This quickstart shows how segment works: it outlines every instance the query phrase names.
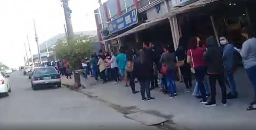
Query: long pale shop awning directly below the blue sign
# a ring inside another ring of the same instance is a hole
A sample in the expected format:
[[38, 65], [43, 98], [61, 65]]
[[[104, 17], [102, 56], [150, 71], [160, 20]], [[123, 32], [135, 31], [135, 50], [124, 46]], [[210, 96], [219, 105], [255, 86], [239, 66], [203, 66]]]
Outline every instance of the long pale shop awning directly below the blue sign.
[[157, 18], [157, 19], [148, 21], [148, 22], [146, 22], [146, 23], [142, 23], [142, 24], [140, 24], [140, 25], [134, 27], [133, 29], [128, 30], [127, 32], [124, 32], [124, 33], [122, 33], [122, 34], [120, 34], [120, 35], [117, 35], [117, 36], [115, 36], [115, 37], [113, 37], [113, 38], [109, 38], [109, 39], [106, 39], [106, 40], [102, 40], [101, 42], [105, 42], [105, 41], [109, 41], [109, 40], [121, 38], [121, 37], [124, 37], [124, 36], [126, 36], [126, 35], [133, 34], [134, 32], [139, 32], [139, 31], [142, 31], [142, 30], [144, 30], [144, 29], [148, 29], [148, 28], [150, 28], [150, 27], [152, 27], [152, 26], [157, 25], [158, 23], [161, 23], [162, 20], [166, 20], [166, 19], [167, 19], [167, 17], [160, 17], [160, 18]]

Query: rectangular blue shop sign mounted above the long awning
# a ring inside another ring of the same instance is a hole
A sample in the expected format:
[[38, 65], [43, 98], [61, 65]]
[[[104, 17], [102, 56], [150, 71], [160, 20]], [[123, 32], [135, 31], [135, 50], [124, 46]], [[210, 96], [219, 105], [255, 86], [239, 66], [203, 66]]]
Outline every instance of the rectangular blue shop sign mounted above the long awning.
[[109, 34], [138, 23], [137, 9], [133, 9], [108, 23]]

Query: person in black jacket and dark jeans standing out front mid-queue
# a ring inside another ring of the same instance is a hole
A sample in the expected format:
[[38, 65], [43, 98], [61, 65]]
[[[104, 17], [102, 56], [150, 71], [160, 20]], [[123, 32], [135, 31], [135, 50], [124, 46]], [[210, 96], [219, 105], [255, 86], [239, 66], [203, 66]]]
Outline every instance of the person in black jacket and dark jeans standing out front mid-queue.
[[[151, 97], [150, 93], [150, 79], [152, 75], [151, 70], [151, 64], [146, 59], [145, 52], [143, 50], [139, 51], [138, 58], [135, 59], [134, 62], [134, 77], [138, 78], [139, 84], [140, 84], [140, 93], [142, 100], [145, 101], [148, 99], [148, 101], [151, 101], [154, 99], [154, 97]], [[145, 98], [145, 92], [147, 94], [147, 98]]]

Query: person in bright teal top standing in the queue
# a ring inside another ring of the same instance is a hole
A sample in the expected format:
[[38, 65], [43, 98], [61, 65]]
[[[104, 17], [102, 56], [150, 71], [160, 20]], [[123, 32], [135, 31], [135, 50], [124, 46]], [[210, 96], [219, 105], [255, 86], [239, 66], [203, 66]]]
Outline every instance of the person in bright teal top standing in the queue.
[[119, 54], [116, 56], [116, 63], [119, 69], [119, 74], [122, 80], [125, 80], [125, 66], [126, 66], [126, 55], [123, 48], [119, 49]]

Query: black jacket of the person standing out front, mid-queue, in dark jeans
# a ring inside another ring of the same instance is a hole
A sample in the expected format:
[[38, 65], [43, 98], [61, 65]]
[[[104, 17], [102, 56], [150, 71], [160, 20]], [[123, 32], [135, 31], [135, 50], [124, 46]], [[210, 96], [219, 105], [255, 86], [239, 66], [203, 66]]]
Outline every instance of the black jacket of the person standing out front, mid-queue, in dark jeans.
[[140, 58], [137, 58], [134, 62], [133, 74], [138, 80], [150, 80], [153, 75], [150, 61], [145, 60], [141, 62]]

